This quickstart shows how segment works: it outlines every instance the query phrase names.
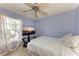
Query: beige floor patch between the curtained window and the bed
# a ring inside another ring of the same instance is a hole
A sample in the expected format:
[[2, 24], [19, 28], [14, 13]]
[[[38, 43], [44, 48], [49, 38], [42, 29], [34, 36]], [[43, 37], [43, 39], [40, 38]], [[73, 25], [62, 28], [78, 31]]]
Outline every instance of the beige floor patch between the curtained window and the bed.
[[7, 54], [6, 56], [28, 56], [27, 49], [24, 47], [20, 47], [14, 52]]

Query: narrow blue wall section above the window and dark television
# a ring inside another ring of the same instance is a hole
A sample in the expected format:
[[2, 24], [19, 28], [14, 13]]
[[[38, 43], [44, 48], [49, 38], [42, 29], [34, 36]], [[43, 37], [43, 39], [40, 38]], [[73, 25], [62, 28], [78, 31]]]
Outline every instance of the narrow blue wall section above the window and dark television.
[[16, 18], [16, 19], [21, 19], [22, 22], [23, 22], [23, 25], [34, 26], [34, 21], [33, 20], [31, 20], [29, 18], [26, 18], [26, 17], [24, 17], [20, 14], [15, 13], [15, 12], [9, 11], [9, 10], [4, 9], [4, 8], [0, 8], [0, 13], [8, 15], [8, 16]]

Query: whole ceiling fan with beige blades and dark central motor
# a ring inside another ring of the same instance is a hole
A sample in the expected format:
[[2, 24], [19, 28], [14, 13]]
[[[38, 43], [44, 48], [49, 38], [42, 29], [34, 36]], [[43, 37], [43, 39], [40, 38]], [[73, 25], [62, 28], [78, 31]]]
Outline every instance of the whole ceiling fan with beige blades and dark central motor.
[[35, 18], [39, 17], [39, 15], [46, 16], [47, 13], [43, 11], [42, 9], [45, 8], [44, 3], [24, 3], [26, 6], [30, 7], [31, 9], [23, 11], [23, 13], [31, 12], [31, 14], [34, 15]]

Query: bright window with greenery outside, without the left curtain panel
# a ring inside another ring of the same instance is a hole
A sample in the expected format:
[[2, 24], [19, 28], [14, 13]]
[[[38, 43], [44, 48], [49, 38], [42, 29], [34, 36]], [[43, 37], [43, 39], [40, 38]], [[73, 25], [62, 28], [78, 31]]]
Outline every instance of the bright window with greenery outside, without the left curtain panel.
[[7, 39], [7, 43], [11, 43], [13, 41], [17, 41], [19, 39], [21, 32], [21, 21], [17, 19], [13, 19], [11, 17], [5, 17], [4, 21], [5, 27], [5, 37]]

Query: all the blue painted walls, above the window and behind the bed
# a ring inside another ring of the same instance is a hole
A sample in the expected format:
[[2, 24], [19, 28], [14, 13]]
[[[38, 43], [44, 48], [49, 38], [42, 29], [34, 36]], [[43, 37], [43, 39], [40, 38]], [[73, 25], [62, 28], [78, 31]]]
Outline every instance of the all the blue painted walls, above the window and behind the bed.
[[23, 20], [23, 25], [35, 27], [37, 36], [62, 37], [67, 33], [79, 34], [79, 7], [35, 21], [4, 8], [0, 8], [0, 13]]

